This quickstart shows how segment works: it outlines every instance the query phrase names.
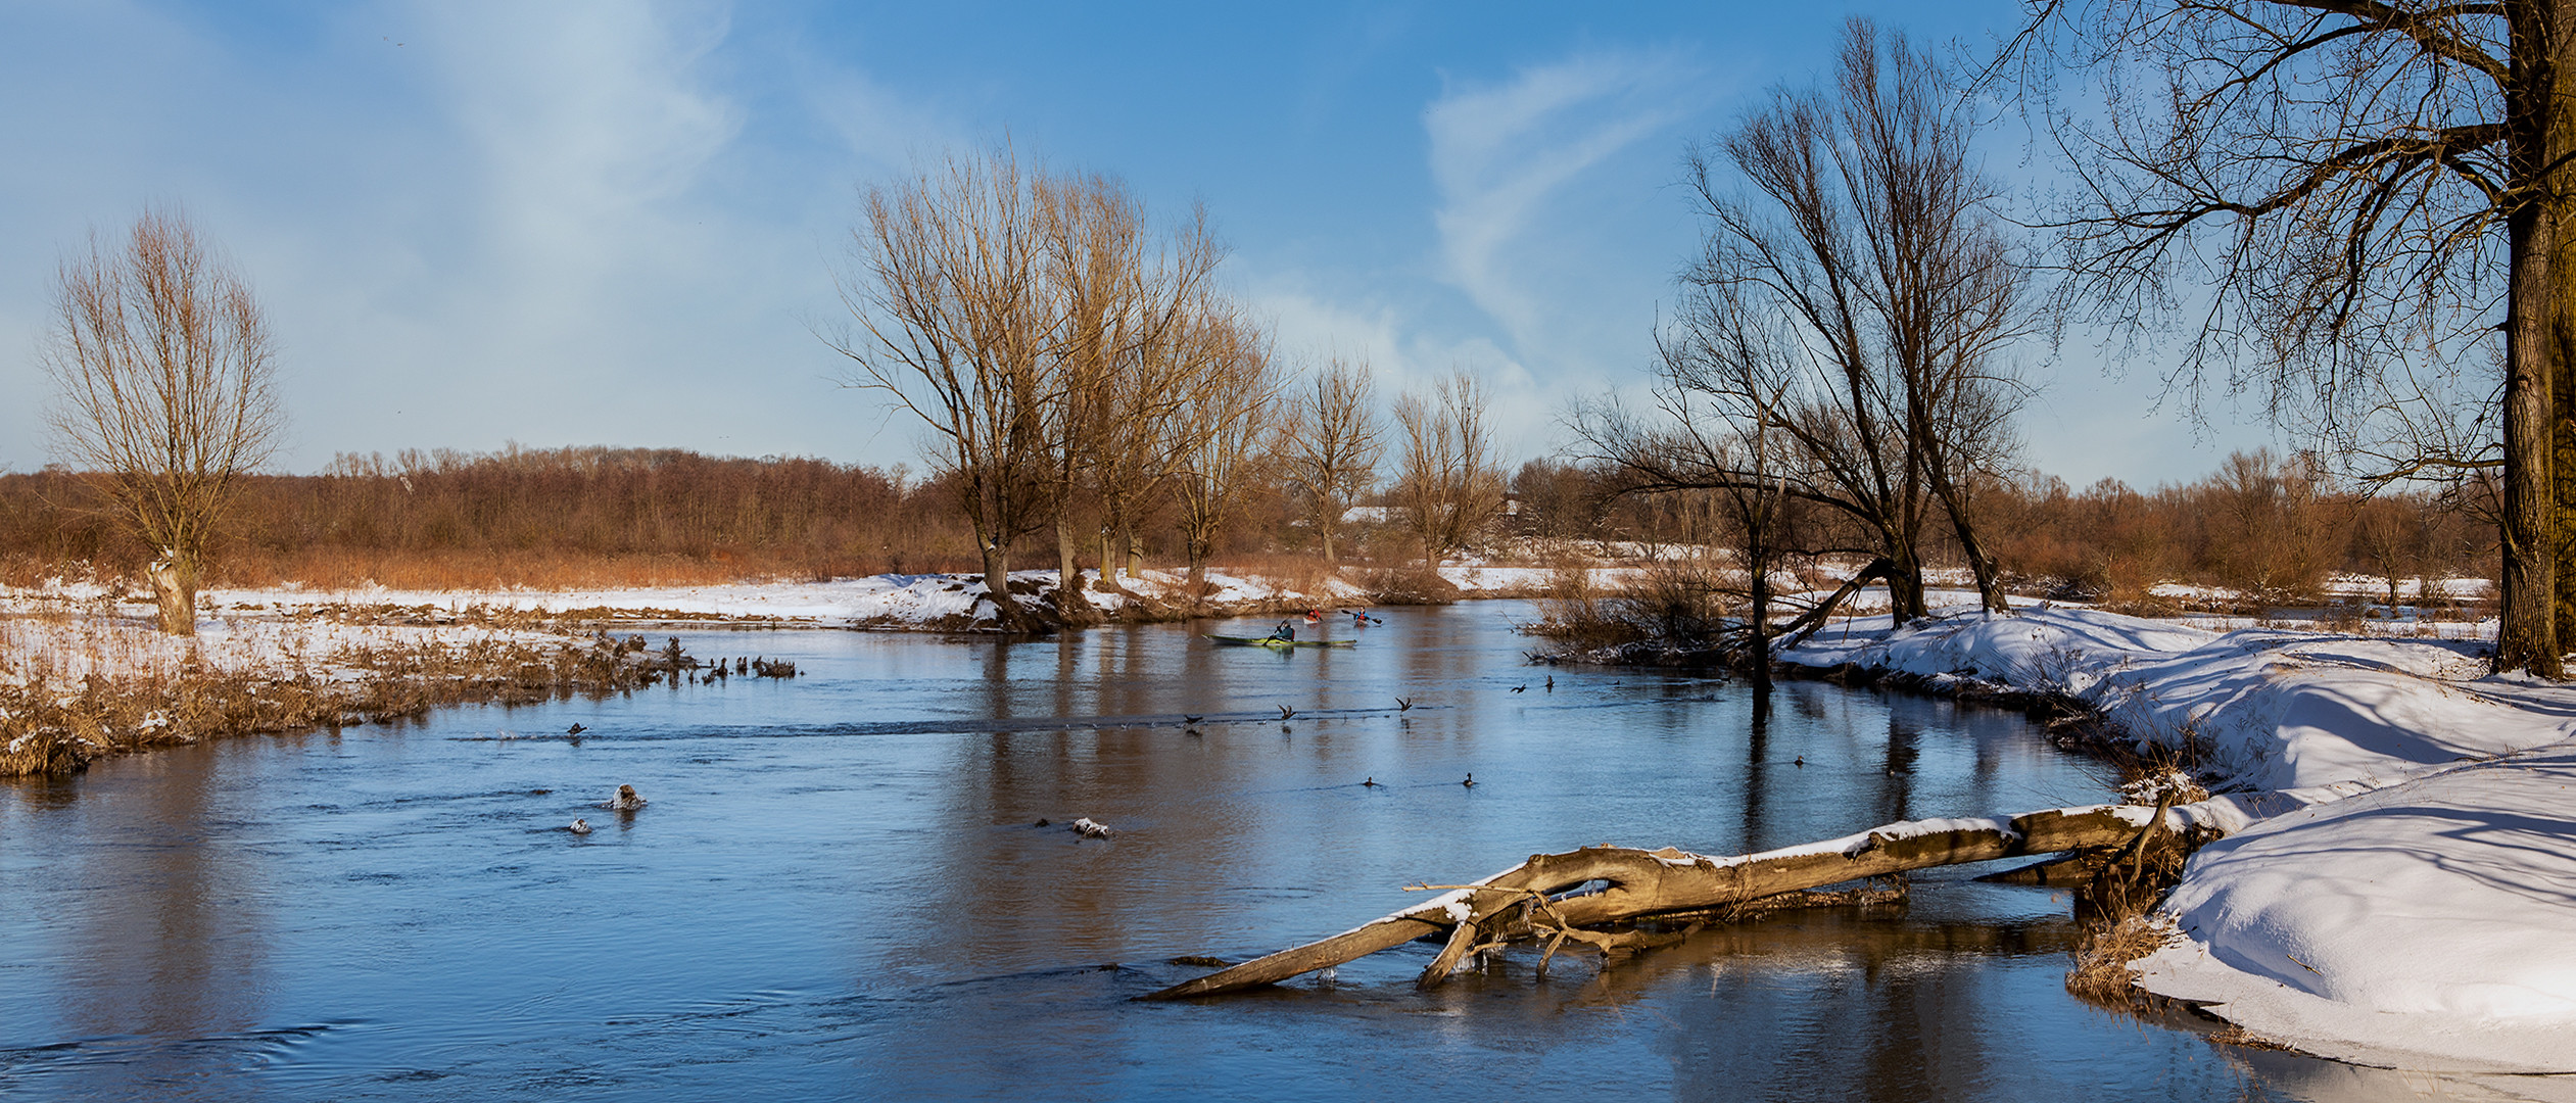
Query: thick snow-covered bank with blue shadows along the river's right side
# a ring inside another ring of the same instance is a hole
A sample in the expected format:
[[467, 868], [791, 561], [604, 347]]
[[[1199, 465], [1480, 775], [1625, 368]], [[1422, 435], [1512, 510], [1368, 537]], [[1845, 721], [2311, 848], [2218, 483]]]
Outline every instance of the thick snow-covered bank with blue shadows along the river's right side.
[[2063, 693], [2277, 794], [2192, 858], [2148, 990], [2360, 1064], [2576, 1072], [2576, 688], [2478, 652], [2027, 608], [1857, 619], [1783, 660]]

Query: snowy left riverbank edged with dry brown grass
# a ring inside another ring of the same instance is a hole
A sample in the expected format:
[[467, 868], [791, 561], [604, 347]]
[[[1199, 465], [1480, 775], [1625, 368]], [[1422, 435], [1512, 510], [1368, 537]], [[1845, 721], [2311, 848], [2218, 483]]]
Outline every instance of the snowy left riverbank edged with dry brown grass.
[[[1100, 590], [1103, 621], [1151, 624], [1453, 598], [1528, 595], [1540, 567], [1265, 580], [1211, 572], [1182, 598], [1177, 572]], [[1015, 600], [1054, 611], [1054, 572], [1012, 572]], [[0, 588], [0, 778], [227, 734], [415, 716], [448, 704], [613, 693], [657, 675], [659, 652], [600, 631], [659, 626], [999, 631], [979, 575], [876, 575], [600, 590], [209, 588], [198, 634], [155, 631], [142, 593], [95, 582]]]

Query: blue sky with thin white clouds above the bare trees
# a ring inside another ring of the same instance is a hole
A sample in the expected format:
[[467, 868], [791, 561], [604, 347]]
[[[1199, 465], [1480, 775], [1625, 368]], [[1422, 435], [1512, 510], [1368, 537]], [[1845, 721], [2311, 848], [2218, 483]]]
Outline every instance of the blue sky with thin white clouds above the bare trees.
[[[1649, 381], [1682, 144], [1819, 75], [1847, 13], [1984, 46], [2012, 3], [0, 3], [0, 469], [49, 459], [54, 258], [180, 204], [283, 343], [283, 469], [626, 443], [920, 466], [811, 327], [866, 180], [1002, 139], [1206, 201], [1291, 356], [1479, 371], [1515, 459]], [[2020, 147], [1996, 144], [1996, 170]], [[2084, 340], [2027, 461], [2187, 479], [2215, 438]], [[2066, 358], [2058, 363], [2058, 358]]]

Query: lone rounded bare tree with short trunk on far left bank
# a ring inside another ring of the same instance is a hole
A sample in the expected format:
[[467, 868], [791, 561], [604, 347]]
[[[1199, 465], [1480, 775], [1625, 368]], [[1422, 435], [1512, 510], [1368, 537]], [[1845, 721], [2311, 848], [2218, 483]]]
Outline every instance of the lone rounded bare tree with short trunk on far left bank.
[[209, 539], [286, 423], [260, 302], [185, 214], [147, 209], [121, 253], [93, 232], [57, 265], [41, 358], [59, 454], [155, 549], [162, 631], [193, 637]]

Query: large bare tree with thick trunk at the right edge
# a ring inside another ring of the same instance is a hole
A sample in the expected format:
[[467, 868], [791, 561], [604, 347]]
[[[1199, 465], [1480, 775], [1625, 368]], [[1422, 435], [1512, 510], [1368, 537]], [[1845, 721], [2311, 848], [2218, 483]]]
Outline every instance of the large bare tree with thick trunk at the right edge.
[[[2257, 389], [2285, 423], [2385, 412], [2380, 387], [2478, 371], [2478, 433], [2398, 474], [2501, 474], [2496, 667], [2561, 675], [2576, 634], [2576, 3], [2032, 0], [2025, 101], [2081, 180], [2071, 320], [2192, 312], [2169, 384]], [[2092, 101], [2092, 95], [2087, 95]], [[2215, 376], [2215, 379], [2210, 379]], [[2360, 410], [2354, 407], [2360, 402]], [[2494, 417], [2491, 417], [2494, 415]], [[2447, 417], [2432, 417], [2445, 423]], [[2388, 474], [2388, 472], [2383, 472]]]

